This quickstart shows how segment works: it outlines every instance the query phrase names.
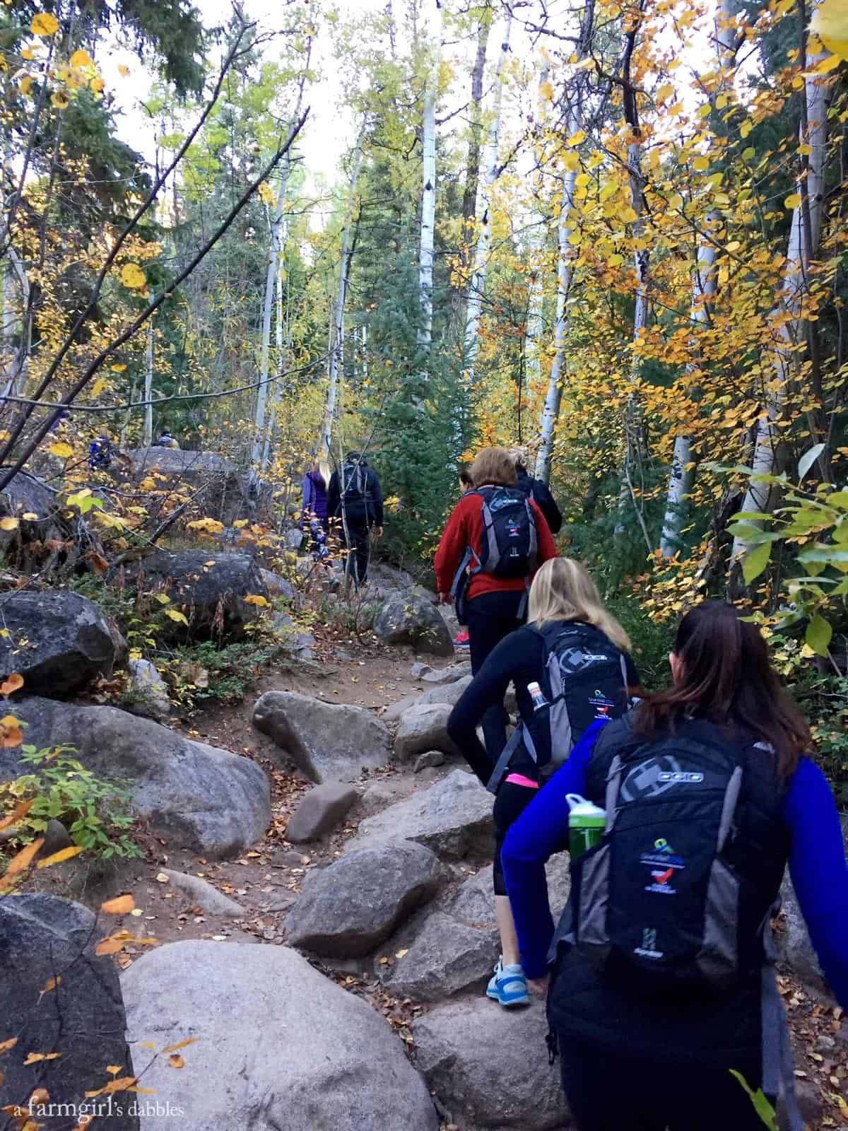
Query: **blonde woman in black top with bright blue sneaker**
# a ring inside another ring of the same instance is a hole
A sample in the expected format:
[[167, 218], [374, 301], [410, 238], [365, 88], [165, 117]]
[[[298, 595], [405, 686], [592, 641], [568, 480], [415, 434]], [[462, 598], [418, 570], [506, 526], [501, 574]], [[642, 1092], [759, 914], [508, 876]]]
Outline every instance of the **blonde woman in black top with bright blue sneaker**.
[[[624, 713], [628, 689], [639, 685], [629, 653], [626, 632], [604, 608], [583, 567], [554, 558], [534, 578], [528, 623], [501, 640], [448, 720], [451, 739], [495, 794], [493, 879], [501, 957], [486, 994], [507, 1009], [530, 999], [501, 865], [504, 837], [583, 731], [596, 718]], [[510, 682], [521, 725], [495, 766], [476, 729], [487, 710], [503, 703]]]

